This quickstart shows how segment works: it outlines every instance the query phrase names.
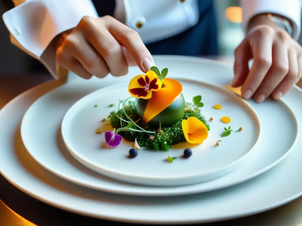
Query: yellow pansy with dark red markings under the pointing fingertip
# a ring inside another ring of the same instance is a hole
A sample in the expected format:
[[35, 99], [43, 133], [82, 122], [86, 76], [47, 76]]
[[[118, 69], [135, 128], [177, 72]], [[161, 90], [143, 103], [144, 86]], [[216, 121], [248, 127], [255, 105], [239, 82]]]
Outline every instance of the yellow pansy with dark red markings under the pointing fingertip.
[[135, 98], [150, 99], [152, 91], [161, 89], [162, 82], [154, 71], [147, 71], [146, 74], [135, 76], [130, 80], [128, 90]]

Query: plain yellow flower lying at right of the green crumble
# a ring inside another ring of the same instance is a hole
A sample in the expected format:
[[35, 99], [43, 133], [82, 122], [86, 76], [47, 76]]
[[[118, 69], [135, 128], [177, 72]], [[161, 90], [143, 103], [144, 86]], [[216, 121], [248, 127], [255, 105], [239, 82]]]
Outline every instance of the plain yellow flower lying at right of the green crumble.
[[207, 127], [195, 117], [182, 120], [182, 131], [191, 144], [201, 144], [208, 137]]

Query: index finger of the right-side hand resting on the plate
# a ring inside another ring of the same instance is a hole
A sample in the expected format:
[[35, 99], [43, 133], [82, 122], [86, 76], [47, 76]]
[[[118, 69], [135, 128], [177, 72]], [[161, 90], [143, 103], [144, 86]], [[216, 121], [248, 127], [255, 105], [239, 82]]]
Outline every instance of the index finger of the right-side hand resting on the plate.
[[269, 35], [261, 35], [259, 38], [250, 39], [248, 44], [254, 62], [241, 89], [244, 99], [254, 95], [271, 67], [273, 39]]

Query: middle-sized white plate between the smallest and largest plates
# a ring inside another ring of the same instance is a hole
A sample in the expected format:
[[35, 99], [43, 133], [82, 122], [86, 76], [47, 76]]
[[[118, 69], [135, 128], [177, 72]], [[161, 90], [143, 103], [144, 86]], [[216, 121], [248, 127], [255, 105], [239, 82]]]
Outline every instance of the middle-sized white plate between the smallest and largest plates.
[[[156, 58], [159, 59], [159, 63], [157, 64], [160, 64], [160, 62], [169, 62], [171, 59], [170, 57]], [[224, 64], [196, 58], [177, 57], [174, 58], [174, 61], [177, 61], [178, 59], [186, 64], [191, 64], [192, 61], [195, 61], [196, 64], [194, 65], [197, 67], [197, 70], [199, 70], [198, 67], [200, 65], [205, 73], [200, 75], [200, 79], [205, 80], [208, 83], [213, 82], [212, 78], [215, 77], [220, 86], [229, 84], [231, 81], [232, 68]], [[211, 72], [209, 69], [213, 67], [216, 68], [217, 73], [215, 71]], [[138, 72], [135, 68], [131, 68], [130, 72], [131, 71], [133, 71], [133, 73]], [[278, 114], [276, 115], [276, 118], [282, 118], [283, 121], [287, 121], [287, 123], [283, 123], [282, 126], [285, 127], [286, 130], [291, 128], [290, 132], [294, 133], [295, 136], [297, 135], [295, 131], [297, 128], [295, 118], [292, 116], [289, 108], [282, 102], [267, 101], [265, 105], [259, 105], [253, 101], [249, 101], [249, 104], [259, 112], [259, 117], [262, 121], [261, 136], [265, 135], [265, 137], [260, 137], [260, 141], [263, 139], [261, 145], [255, 147], [255, 154], [251, 156], [249, 162], [239, 170], [209, 182], [171, 188], [137, 186], [112, 180], [83, 167], [79, 162], [75, 161], [63, 144], [60, 133], [60, 124], [66, 111], [78, 99], [92, 93], [102, 86], [108, 86], [116, 80], [119, 80], [118, 82], [120, 82], [122, 79], [125, 79], [125, 81], [129, 80], [127, 77], [117, 79], [108, 77], [101, 80], [101, 83], [99, 83], [98, 80], [89, 80], [89, 82], [82, 83], [82, 80], [80, 80], [79, 83], [72, 83], [68, 86], [66, 85], [64, 89], [57, 89], [56, 92], [48, 93], [31, 105], [22, 121], [22, 139], [32, 157], [52, 173], [82, 186], [128, 195], [182, 195], [217, 190], [241, 183], [267, 171], [280, 162], [286, 156], [288, 153], [287, 150], [290, 149], [293, 144], [294, 136], [292, 139], [289, 139], [288, 137], [285, 139], [285, 136], [287, 136], [286, 133], [275, 133], [276, 130], [280, 130], [280, 125], [276, 124], [275, 118], [270, 117], [267, 112], [273, 111], [275, 114]], [[101, 108], [94, 108], [94, 110], [100, 109]], [[100, 115], [100, 120], [101, 119]], [[220, 124], [219, 120], [211, 122], [212, 127], [217, 124]], [[47, 128], [47, 130], [45, 128]], [[242, 132], [244, 131], [245, 130]], [[274, 149], [271, 148], [272, 143], [276, 145]], [[219, 148], [221, 146], [219, 146]], [[219, 155], [225, 154], [224, 152], [220, 152], [219, 149], [217, 150]], [[255, 161], [257, 164], [254, 164]]]

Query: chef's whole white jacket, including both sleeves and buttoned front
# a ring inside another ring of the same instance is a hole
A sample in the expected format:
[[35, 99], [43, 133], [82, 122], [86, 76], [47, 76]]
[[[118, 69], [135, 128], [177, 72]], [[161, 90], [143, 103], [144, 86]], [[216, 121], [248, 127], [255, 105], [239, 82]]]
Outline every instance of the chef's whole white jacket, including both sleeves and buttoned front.
[[[100, 0], [101, 1], [101, 0]], [[114, 1], [114, 0], [109, 0]], [[175, 36], [193, 27], [199, 19], [197, 0], [115, 0], [114, 17], [136, 30], [145, 44]], [[223, 1], [223, 0], [221, 0]], [[76, 27], [83, 16], [98, 17], [90, 0], [12, 0], [15, 7], [2, 16], [11, 42], [40, 60], [54, 78], [59, 77], [55, 48], [58, 34]], [[240, 0], [242, 26], [261, 13], [287, 17], [293, 24], [293, 38], [301, 28], [302, 0]], [[137, 22], [143, 29], [136, 27]]]

